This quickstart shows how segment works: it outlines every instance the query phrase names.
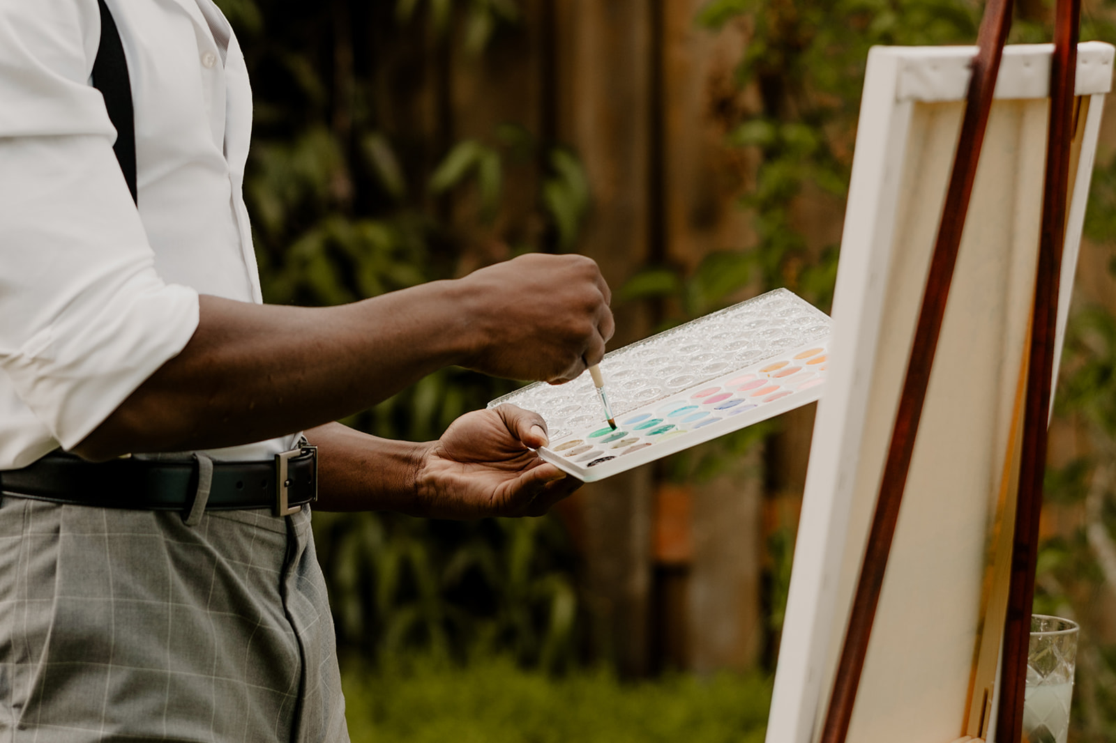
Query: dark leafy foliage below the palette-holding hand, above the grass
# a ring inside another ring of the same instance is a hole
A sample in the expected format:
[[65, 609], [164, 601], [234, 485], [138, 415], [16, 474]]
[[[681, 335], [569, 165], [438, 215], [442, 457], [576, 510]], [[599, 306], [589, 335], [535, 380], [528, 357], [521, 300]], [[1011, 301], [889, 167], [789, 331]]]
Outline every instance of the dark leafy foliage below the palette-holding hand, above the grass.
[[315, 529], [338, 635], [368, 658], [509, 653], [548, 670], [575, 658], [573, 560], [552, 520], [319, 513]]

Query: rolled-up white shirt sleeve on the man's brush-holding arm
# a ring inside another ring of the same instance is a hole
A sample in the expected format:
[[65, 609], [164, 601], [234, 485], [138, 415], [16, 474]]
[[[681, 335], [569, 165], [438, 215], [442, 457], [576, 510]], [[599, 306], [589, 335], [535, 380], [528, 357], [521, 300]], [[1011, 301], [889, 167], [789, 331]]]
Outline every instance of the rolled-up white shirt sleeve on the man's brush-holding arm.
[[88, 85], [97, 13], [0, 0], [0, 373], [67, 448], [198, 326], [198, 292], [155, 272]]

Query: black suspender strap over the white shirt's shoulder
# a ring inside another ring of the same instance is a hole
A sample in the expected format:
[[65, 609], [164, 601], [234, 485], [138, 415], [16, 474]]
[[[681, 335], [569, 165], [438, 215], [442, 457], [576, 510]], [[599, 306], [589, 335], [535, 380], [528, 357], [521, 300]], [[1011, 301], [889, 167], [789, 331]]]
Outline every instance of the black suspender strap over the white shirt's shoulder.
[[100, 90], [105, 97], [105, 108], [108, 118], [116, 127], [116, 144], [113, 151], [116, 161], [124, 172], [132, 201], [136, 197], [136, 127], [135, 113], [132, 108], [132, 81], [128, 79], [128, 62], [124, 57], [124, 45], [121, 32], [116, 29], [113, 15], [108, 12], [105, 0], [97, 0], [100, 6], [100, 46], [97, 58], [93, 60], [93, 87]]

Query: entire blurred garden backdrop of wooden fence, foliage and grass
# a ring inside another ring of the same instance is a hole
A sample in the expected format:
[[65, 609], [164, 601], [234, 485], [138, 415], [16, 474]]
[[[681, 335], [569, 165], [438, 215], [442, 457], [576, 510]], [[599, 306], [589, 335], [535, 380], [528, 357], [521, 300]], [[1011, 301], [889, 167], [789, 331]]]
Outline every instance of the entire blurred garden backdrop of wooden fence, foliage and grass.
[[[218, 0], [252, 74], [264, 297], [333, 305], [591, 255], [618, 347], [788, 287], [828, 311], [868, 47], [970, 0]], [[1116, 40], [1086, 0], [1083, 40]], [[1020, 0], [1012, 40], [1050, 38]], [[1116, 110], [1050, 446], [1037, 610], [1083, 625], [1071, 740], [1116, 740]], [[514, 383], [444, 369], [346, 423], [436, 437]], [[315, 515], [360, 741], [761, 741], [812, 406], [551, 515]]]

